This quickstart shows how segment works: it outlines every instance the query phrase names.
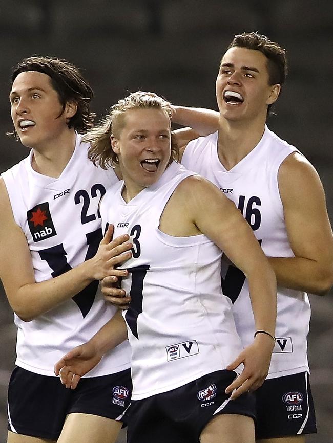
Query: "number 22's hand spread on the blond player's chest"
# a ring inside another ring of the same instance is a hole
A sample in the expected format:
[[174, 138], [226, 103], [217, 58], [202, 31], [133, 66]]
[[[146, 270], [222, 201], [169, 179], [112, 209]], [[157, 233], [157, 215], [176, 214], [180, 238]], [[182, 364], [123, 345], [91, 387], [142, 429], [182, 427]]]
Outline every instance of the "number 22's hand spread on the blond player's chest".
[[99, 243], [96, 255], [89, 260], [91, 277], [94, 280], [113, 277], [113, 283], [115, 283], [118, 278], [128, 274], [126, 269], [115, 269], [115, 267], [132, 257], [131, 248], [133, 245], [129, 241], [128, 234], [120, 235], [113, 240], [113, 231], [114, 227], [110, 225], [104, 238]]

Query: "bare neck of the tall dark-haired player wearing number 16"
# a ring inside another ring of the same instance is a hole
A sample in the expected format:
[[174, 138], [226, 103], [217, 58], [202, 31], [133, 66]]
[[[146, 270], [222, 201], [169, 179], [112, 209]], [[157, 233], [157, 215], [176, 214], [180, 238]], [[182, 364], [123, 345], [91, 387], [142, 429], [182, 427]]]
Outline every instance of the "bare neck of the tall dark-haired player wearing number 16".
[[220, 116], [218, 157], [226, 170], [232, 169], [259, 143], [265, 122], [234, 122]]

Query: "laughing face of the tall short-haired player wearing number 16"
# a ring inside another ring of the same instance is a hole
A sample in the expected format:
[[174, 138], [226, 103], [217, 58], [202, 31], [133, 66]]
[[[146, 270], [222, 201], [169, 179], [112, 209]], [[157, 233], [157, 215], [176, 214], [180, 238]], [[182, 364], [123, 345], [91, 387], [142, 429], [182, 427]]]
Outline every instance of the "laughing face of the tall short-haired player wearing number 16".
[[233, 47], [224, 54], [216, 79], [216, 99], [226, 120], [266, 120], [267, 106], [280, 85], [269, 85], [266, 56], [257, 50]]

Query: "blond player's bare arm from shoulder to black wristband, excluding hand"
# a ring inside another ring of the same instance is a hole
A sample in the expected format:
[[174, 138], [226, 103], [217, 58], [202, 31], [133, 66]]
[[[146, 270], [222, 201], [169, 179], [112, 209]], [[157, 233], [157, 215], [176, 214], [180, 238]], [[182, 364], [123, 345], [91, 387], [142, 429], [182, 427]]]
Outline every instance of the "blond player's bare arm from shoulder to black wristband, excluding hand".
[[[191, 206], [193, 202], [195, 205], [194, 223], [243, 271], [249, 283], [256, 329], [274, 335], [275, 276], [252, 229], [235, 204], [210, 182], [194, 177], [188, 187], [186, 194], [191, 195]], [[209, 204], [207, 195], [210, 195]]]

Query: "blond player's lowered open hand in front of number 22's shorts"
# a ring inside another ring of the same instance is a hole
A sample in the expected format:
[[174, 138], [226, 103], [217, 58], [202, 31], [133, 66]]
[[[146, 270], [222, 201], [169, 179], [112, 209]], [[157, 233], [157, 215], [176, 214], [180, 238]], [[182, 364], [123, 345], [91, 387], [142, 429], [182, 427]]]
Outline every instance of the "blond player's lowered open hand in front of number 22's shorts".
[[75, 389], [82, 375], [85, 375], [100, 362], [102, 354], [92, 343], [76, 346], [63, 356], [55, 365], [54, 373], [67, 389]]

